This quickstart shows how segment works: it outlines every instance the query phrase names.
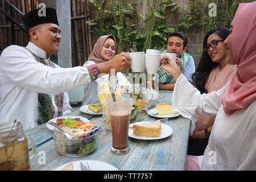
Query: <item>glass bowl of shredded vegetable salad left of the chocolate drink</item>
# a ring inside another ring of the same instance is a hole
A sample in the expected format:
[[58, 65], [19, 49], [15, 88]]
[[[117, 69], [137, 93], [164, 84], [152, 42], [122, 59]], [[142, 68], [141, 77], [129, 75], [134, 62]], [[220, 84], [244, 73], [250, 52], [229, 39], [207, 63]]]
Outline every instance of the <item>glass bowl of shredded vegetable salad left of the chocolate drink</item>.
[[94, 152], [99, 143], [100, 126], [95, 122], [76, 122], [71, 118], [59, 125], [63, 130], [75, 137], [68, 139], [64, 134], [54, 133], [53, 139], [56, 151], [69, 157], [80, 157]]

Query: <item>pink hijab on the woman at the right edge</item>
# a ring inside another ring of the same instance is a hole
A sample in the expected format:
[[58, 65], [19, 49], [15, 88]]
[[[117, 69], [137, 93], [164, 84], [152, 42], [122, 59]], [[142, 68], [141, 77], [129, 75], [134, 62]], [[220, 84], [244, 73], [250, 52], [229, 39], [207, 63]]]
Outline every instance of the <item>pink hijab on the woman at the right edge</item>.
[[222, 97], [226, 114], [248, 107], [256, 98], [255, 10], [256, 2], [240, 3], [233, 19], [232, 49], [237, 72]]

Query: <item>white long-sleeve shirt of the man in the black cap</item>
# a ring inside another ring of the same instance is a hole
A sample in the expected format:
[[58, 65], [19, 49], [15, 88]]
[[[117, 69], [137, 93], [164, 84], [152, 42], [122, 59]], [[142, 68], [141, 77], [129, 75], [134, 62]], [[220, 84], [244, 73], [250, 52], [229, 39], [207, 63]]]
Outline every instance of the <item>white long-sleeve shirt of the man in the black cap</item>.
[[[35, 44], [26, 48], [48, 61], [46, 52]], [[71, 107], [65, 92], [91, 81], [86, 67], [51, 68], [38, 63], [26, 48], [9, 46], [0, 57], [0, 122], [19, 119], [24, 130], [37, 126], [38, 93], [64, 92], [63, 114], [67, 114]]]

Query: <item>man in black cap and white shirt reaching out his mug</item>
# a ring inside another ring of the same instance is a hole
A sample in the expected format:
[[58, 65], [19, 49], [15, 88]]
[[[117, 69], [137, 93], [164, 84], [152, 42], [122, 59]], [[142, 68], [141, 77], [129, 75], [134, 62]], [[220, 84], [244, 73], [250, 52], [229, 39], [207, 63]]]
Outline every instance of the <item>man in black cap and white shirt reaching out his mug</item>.
[[27, 13], [23, 22], [30, 42], [27, 47], [9, 46], [0, 56], [0, 122], [19, 119], [28, 130], [49, 119], [70, 113], [67, 91], [96, 80], [100, 73], [130, 69], [127, 53], [88, 67], [60, 68], [49, 57], [59, 51], [61, 40], [56, 10]]

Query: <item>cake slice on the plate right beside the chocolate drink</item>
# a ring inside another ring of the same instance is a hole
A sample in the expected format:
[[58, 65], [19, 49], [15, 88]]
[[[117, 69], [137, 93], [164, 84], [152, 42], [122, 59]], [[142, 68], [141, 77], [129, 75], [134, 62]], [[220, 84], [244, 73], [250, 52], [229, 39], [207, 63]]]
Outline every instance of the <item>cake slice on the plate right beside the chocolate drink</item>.
[[133, 134], [142, 137], [160, 137], [162, 125], [160, 121], [133, 125]]

